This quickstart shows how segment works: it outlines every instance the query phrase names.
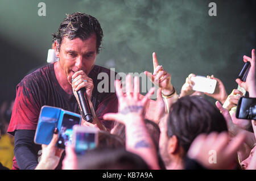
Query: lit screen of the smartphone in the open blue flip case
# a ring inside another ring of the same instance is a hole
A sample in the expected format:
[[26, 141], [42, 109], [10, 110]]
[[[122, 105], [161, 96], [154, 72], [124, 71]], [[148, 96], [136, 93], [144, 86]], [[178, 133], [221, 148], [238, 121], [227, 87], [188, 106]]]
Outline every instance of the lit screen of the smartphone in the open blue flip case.
[[57, 141], [57, 147], [65, 149], [65, 146], [72, 144], [73, 125], [79, 124], [80, 118], [68, 114], [63, 115], [63, 121], [60, 127], [60, 136]]

